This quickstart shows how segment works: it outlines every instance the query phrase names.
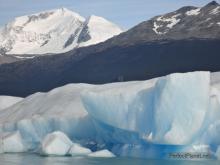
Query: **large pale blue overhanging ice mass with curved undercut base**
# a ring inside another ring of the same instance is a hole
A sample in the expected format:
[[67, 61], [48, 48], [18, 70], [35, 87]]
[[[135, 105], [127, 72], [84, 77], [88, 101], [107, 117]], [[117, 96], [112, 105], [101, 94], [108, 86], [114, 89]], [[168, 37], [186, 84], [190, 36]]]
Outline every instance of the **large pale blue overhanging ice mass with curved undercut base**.
[[210, 73], [171, 74], [150, 88], [142, 85], [89, 91], [82, 100], [88, 113], [101, 123], [138, 132], [154, 143], [190, 143], [209, 106]]

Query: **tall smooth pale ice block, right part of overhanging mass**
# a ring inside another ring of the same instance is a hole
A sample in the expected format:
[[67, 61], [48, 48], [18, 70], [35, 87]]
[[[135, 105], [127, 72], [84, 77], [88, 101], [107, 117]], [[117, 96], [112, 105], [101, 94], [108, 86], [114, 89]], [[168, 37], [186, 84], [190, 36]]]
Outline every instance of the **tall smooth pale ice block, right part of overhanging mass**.
[[[195, 85], [196, 84], [196, 85]], [[172, 74], [155, 86], [153, 136], [159, 143], [189, 144], [209, 106], [208, 72]], [[173, 104], [174, 103], [174, 104]]]

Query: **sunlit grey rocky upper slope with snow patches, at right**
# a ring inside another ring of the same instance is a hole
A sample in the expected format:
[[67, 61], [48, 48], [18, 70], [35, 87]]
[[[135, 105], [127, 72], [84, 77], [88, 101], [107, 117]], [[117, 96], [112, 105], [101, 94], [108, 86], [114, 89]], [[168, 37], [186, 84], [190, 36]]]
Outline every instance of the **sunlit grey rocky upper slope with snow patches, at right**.
[[212, 1], [204, 7], [182, 7], [174, 12], [142, 22], [108, 45], [131, 45], [161, 39], [218, 38], [220, 39], [220, 5]]

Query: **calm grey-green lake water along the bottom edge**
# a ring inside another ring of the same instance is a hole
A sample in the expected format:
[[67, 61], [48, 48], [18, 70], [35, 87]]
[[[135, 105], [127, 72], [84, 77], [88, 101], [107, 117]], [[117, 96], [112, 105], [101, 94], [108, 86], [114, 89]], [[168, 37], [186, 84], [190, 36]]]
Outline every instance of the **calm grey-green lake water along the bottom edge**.
[[35, 154], [0, 154], [0, 165], [219, 165], [220, 161], [147, 160], [134, 158], [41, 157]]

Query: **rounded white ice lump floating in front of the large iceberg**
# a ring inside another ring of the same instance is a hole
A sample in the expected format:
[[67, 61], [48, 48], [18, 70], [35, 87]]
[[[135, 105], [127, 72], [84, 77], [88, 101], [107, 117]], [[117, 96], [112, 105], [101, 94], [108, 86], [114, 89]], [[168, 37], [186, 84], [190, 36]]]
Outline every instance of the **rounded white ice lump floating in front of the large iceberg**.
[[41, 152], [43, 155], [67, 155], [72, 144], [72, 141], [64, 133], [53, 132], [43, 139]]

